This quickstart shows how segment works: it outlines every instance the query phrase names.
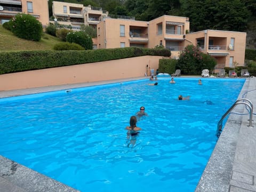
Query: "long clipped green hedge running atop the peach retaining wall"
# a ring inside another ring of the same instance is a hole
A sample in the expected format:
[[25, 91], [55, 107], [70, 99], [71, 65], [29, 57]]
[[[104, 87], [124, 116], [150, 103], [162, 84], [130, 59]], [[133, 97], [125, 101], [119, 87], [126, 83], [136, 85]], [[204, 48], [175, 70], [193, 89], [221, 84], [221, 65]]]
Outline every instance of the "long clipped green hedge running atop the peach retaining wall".
[[124, 59], [143, 55], [170, 57], [171, 52], [167, 49], [156, 50], [143, 49], [139, 47], [86, 51], [67, 50], [0, 52], [0, 74]]

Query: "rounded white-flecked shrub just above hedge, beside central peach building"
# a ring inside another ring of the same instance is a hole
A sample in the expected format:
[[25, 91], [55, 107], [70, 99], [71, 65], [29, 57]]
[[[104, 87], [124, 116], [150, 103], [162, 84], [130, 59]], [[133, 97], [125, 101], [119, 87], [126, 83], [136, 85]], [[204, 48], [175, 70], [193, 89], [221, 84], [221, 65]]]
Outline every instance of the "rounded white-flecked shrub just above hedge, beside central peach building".
[[92, 38], [85, 34], [84, 31], [73, 31], [67, 34], [66, 41], [77, 43], [84, 47], [85, 50], [92, 50]]

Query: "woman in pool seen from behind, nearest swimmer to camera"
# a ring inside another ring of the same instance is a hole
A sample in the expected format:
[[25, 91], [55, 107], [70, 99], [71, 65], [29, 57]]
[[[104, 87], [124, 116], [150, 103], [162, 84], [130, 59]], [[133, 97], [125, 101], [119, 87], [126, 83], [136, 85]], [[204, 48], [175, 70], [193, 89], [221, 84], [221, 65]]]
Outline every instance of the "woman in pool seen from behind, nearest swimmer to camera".
[[131, 141], [127, 145], [127, 147], [129, 147], [130, 144], [132, 144], [132, 146], [135, 145], [135, 143], [136, 143], [136, 136], [139, 134], [139, 131], [141, 130], [140, 127], [137, 127], [136, 123], [137, 123], [136, 116], [131, 116], [131, 118], [130, 118], [130, 126], [127, 126], [125, 128], [126, 130], [128, 130], [127, 131], [127, 139], [130, 139], [130, 137], [131, 137]]

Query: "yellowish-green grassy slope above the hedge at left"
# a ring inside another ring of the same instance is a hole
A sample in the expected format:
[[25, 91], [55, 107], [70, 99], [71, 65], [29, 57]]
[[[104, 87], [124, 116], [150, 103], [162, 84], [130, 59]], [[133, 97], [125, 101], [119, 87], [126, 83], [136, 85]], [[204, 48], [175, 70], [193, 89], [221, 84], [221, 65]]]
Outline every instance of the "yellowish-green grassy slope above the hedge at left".
[[16, 37], [0, 25], [0, 51], [53, 50], [53, 46], [60, 42], [59, 38], [45, 33], [39, 42], [28, 41]]

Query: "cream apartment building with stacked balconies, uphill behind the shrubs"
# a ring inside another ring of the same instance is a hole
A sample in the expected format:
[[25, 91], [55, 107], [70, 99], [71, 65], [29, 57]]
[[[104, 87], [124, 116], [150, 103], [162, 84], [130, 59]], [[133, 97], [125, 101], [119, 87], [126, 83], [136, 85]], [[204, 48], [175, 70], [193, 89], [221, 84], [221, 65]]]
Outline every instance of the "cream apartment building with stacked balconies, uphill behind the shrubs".
[[89, 25], [94, 28], [97, 24], [108, 16], [108, 12], [101, 7], [83, 6], [77, 3], [52, 2], [52, 12], [54, 20], [60, 25], [70, 26], [74, 30], [79, 30], [81, 25]]

